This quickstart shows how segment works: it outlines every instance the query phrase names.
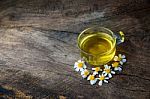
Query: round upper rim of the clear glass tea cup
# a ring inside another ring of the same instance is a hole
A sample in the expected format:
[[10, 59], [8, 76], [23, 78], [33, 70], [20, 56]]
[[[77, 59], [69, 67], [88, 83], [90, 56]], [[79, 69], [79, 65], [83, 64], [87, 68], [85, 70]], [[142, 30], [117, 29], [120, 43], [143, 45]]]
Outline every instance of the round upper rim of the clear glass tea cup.
[[[79, 41], [80, 36], [81, 36], [82, 34], [84, 34], [85, 31], [87, 31], [87, 30], [89, 30], [89, 29], [92, 29], [92, 28], [103, 28], [103, 29], [109, 31], [109, 32], [114, 36], [114, 33], [113, 33], [110, 29], [105, 28], [105, 27], [97, 27], [97, 26], [94, 26], [94, 27], [89, 27], [89, 28], [83, 30], [83, 31], [78, 35], [77, 42]], [[107, 54], [107, 53], [111, 52], [111, 51], [114, 49], [115, 45], [116, 45], [116, 37], [114, 36], [113, 38], [114, 38], [114, 43], [113, 43], [113, 45], [112, 45], [113, 47], [112, 47], [109, 51], [107, 51], [107, 52], [99, 53], [99, 54], [96, 54], [96, 55], [102, 56], [102, 55], [104, 55], [104, 54]], [[83, 53], [85, 53], [85, 54], [87, 54], [87, 55], [90, 55], [90, 56], [94, 56], [93, 54], [87, 53], [87, 52], [85, 52], [84, 50], [82, 50], [82, 49], [80, 48], [80, 46], [79, 46], [79, 43], [77, 43], [77, 46], [78, 46], [78, 48], [80, 49], [80, 51], [82, 51]]]

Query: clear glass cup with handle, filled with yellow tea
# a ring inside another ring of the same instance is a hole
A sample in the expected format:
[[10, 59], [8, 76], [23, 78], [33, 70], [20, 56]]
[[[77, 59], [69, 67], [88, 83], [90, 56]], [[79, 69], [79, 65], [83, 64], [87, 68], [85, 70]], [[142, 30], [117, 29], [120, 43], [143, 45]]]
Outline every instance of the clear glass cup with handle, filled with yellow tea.
[[124, 42], [123, 32], [113, 33], [104, 27], [91, 27], [78, 36], [81, 58], [93, 66], [104, 65], [116, 53], [116, 45]]

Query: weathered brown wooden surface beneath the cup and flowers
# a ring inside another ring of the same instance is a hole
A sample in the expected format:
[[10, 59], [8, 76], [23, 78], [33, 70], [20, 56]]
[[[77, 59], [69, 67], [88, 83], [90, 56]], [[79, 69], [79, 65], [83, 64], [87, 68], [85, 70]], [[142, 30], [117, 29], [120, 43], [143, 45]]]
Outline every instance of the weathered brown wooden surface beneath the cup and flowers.
[[[126, 38], [118, 51], [128, 62], [102, 87], [73, 69], [77, 36], [94, 25], [122, 30]], [[149, 53], [149, 0], [0, 1], [0, 85], [23, 97], [150, 99]]]

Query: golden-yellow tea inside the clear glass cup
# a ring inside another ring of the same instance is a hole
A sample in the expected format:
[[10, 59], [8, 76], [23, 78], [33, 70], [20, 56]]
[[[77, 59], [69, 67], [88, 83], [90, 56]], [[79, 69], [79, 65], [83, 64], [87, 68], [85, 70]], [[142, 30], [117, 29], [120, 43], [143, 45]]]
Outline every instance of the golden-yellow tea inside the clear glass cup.
[[[115, 55], [113, 38], [106, 33], [94, 33], [85, 36], [79, 46], [86, 52], [81, 51], [81, 57], [91, 65], [104, 65]], [[87, 54], [88, 53], [88, 54]]]

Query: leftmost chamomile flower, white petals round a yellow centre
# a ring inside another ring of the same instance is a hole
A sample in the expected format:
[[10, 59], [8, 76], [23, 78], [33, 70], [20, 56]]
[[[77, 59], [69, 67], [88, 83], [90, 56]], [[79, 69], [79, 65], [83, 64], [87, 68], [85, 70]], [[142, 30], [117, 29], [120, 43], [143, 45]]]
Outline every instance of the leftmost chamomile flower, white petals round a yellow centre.
[[78, 60], [77, 62], [75, 62], [74, 68], [75, 68], [75, 71], [83, 71], [84, 69], [86, 69], [86, 65], [84, 61]]

